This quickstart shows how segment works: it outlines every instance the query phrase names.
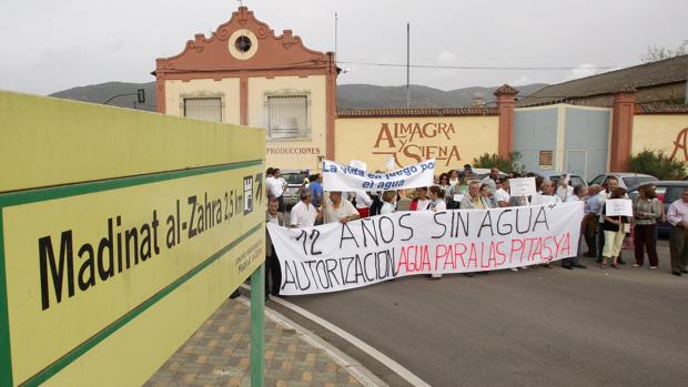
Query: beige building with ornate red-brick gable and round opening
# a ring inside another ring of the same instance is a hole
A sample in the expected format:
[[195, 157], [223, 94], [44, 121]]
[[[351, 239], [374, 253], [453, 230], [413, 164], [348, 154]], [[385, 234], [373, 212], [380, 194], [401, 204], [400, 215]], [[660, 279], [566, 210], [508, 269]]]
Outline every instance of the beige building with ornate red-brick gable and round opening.
[[158, 111], [265, 128], [267, 164], [316, 169], [334, 159], [334, 54], [305, 48], [285, 30], [275, 35], [245, 7], [211, 37], [156, 60]]

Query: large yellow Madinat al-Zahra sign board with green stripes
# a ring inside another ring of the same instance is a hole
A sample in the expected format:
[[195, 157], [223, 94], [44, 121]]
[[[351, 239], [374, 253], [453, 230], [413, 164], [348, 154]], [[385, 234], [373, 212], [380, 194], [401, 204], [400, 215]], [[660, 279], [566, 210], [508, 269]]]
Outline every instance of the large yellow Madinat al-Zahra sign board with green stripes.
[[[0, 93], [0, 153], [94, 129], [117, 143], [7, 165], [24, 173], [0, 187], [2, 386], [142, 384], [264, 259], [264, 131]], [[64, 173], [33, 175], [49, 164]]]

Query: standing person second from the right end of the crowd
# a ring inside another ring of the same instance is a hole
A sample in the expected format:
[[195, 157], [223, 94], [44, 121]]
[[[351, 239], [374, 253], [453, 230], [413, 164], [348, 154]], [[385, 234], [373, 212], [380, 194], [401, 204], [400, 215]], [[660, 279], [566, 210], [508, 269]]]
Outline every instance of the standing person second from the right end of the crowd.
[[657, 268], [657, 220], [661, 217], [661, 203], [657, 200], [655, 190], [649, 184], [638, 187], [638, 198], [633, 204], [634, 212], [634, 242], [636, 252], [636, 263], [634, 267], [643, 266], [645, 253], [650, 261], [650, 268]]

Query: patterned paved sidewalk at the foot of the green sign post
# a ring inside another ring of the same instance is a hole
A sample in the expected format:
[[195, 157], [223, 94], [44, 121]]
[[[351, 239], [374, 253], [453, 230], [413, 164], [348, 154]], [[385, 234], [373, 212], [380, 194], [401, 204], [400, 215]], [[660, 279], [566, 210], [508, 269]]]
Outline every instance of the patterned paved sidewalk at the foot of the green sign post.
[[[251, 310], [242, 298], [224, 302], [144, 386], [251, 386]], [[323, 349], [269, 316], [264, 386], [362, 386]]]

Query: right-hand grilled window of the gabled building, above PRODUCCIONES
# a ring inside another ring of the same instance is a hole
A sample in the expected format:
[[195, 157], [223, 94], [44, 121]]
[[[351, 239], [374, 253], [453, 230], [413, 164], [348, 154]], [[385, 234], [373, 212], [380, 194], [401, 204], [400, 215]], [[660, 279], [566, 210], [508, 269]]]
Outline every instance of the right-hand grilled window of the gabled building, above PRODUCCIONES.
[[271, 140], [311, 136], [306, 95], [267, 96], [267, 138]]

